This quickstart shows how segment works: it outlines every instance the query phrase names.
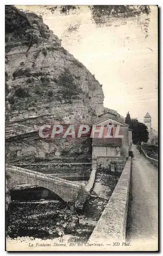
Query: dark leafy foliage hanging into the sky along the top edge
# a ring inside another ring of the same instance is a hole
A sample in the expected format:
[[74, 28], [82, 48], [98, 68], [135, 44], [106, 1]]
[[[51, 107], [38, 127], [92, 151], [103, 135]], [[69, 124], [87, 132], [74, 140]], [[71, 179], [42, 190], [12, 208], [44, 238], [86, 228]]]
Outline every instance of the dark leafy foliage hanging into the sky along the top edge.
[[[77, 12], [76, 14], [83, 12], [80, 6], [74, 5], [43, 6], [43, 8], [50, 10], [52, 13], [59, 10], [62, 15], [68, 15], [70, 11]], [[144, 28], [146, 37], [148, 36], [149, 13], [151, 12], [150, 6], [148, 5], [89, 5], [88, 8], [91, 10], [91, 19], [97, 27], [105, 26], [107, 22], [112, 24], [113, 17], [122, 20], [122, 18], [126, 19], [130, 17], [139, 19], [142, 16], [141, 30]]]

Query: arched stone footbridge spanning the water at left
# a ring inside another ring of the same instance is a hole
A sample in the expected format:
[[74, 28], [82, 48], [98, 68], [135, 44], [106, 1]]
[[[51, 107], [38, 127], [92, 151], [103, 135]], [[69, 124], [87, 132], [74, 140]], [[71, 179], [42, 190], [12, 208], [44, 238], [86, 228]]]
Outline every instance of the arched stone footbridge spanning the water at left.
[[8, 175], [9, 189], [18, 184], [37, 185], [51, 190], [65, 202], [76, 201], [82, 189], [82, 185], [75, 184], [72, 181], [8, 164], [6, 165], [6, 174]]

